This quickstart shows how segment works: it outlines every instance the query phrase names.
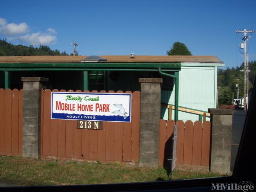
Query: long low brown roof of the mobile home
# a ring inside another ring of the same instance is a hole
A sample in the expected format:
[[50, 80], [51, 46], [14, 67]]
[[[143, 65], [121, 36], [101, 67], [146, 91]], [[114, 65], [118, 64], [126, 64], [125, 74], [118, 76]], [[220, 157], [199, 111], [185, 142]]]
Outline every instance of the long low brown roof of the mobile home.
[[[88, 56], [1, 56], [0, 63], [80, 63]], [[107, 63], [223, 63], [216, 56], [194, 55], [103, 55]]]

